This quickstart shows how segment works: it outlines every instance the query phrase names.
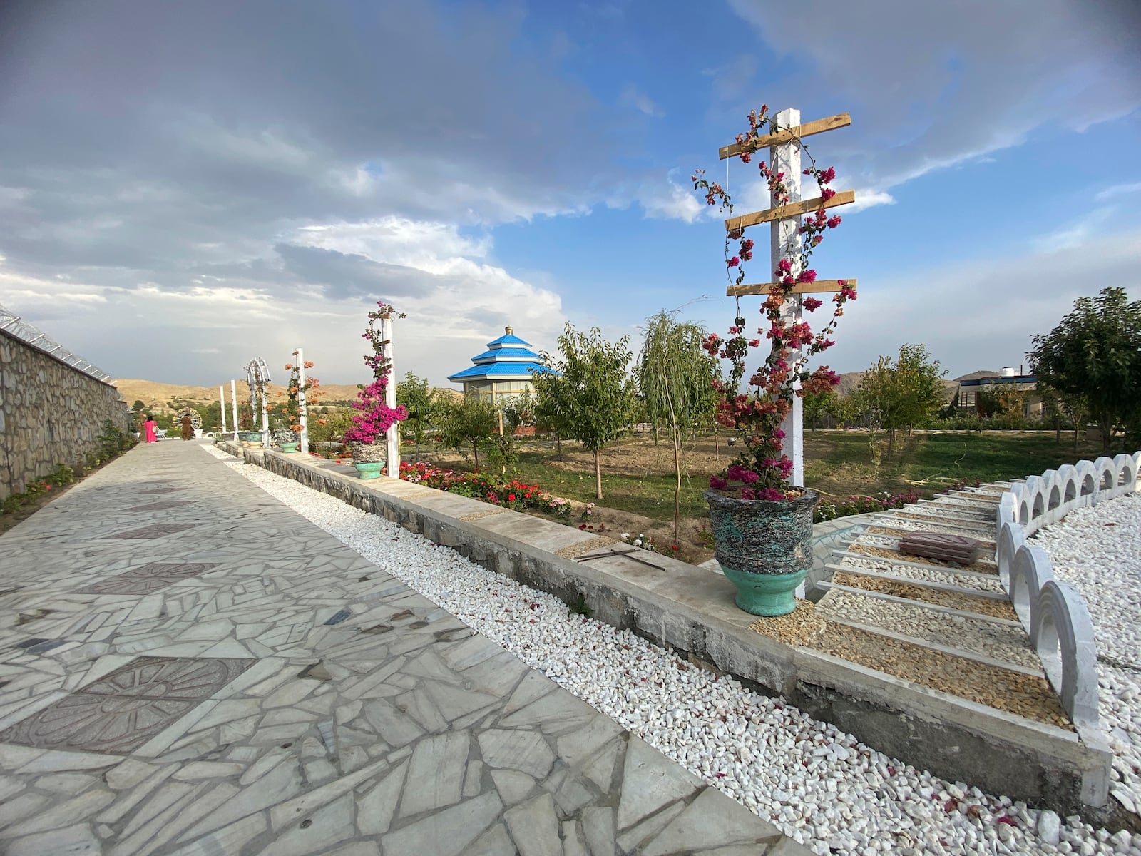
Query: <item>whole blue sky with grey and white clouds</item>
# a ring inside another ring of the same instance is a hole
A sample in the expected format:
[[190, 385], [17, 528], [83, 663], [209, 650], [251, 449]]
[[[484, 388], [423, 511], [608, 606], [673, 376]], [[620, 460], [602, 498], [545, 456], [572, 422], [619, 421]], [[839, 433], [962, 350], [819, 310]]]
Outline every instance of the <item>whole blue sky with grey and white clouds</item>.
[[725, 332], [689, 176], [723, 179], [766, 102], [852, 115], [809, 139], [861, 200], [815, 259], [859, 281], [827, 362], [1017, 366], [1076, 297], [1141, 298], [1139, 9], [8, 0], [0, 305], [115, 377], [195, 385], [254, 356], [280, 379], [298, 346], [363, 380], [378, 299], [407, 313], [397, 374], [436, 386], [505, 324], [550, 350], [568, 321], [637, 350], [663, 308]]

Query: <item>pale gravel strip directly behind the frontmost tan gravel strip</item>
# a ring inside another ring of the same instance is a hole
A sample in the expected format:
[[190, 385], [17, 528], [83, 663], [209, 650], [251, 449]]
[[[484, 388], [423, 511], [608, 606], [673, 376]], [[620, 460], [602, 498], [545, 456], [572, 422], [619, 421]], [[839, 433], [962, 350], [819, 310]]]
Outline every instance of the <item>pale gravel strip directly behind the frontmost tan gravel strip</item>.
[[858, 621], [906, 636], [962, 648], [1017, 665], [1041, 669], [1042, 661], [1030, 646], [1021, 628], [973, 621], [961, 615], [924, 609], [922, 606], [897, 604], [891, 600], [865, 597], [851, 591], [833, 589], [816, 605], [817, 612], [827, 617]]

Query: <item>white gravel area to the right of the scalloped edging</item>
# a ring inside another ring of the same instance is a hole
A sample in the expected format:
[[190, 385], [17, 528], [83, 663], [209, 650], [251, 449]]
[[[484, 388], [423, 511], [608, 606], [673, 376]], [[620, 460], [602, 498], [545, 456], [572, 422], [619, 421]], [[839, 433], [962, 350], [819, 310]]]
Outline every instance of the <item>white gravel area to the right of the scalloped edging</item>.
[[1054, 576], [1076, 586], [1090, 607], [1101, 661], [1098, 712], [1114, 750], [1110, 793], [1141, 813], [1141, 494], [1071, 511], [1029, 543], [1050, 554]]

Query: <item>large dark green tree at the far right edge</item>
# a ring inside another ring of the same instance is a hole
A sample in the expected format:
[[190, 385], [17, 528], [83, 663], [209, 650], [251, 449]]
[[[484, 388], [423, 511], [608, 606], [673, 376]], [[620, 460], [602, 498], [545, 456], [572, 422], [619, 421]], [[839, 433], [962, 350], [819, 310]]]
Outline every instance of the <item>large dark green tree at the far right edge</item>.
[[1109, 451], [1114, 429], [1141, 418], [1141, 301], [1115, 288], [1079, 297], [1058, 326], [1031, 341], [1030, 370], [1063, 401], [1084, 401]]

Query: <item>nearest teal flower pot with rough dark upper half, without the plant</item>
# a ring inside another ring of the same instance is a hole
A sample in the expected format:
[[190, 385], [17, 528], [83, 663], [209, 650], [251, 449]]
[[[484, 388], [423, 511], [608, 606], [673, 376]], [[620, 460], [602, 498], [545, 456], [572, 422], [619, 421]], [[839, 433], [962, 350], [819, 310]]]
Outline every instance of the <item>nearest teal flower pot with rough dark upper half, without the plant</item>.
[[743, 500], [717, 491], [704, 495], [714, 555], [737, 587], [737, 606], [752, 615], [795, 609], [796, 587], [812, 567], [812, 507], [820, 495], [804, 491], [787, 502]]

